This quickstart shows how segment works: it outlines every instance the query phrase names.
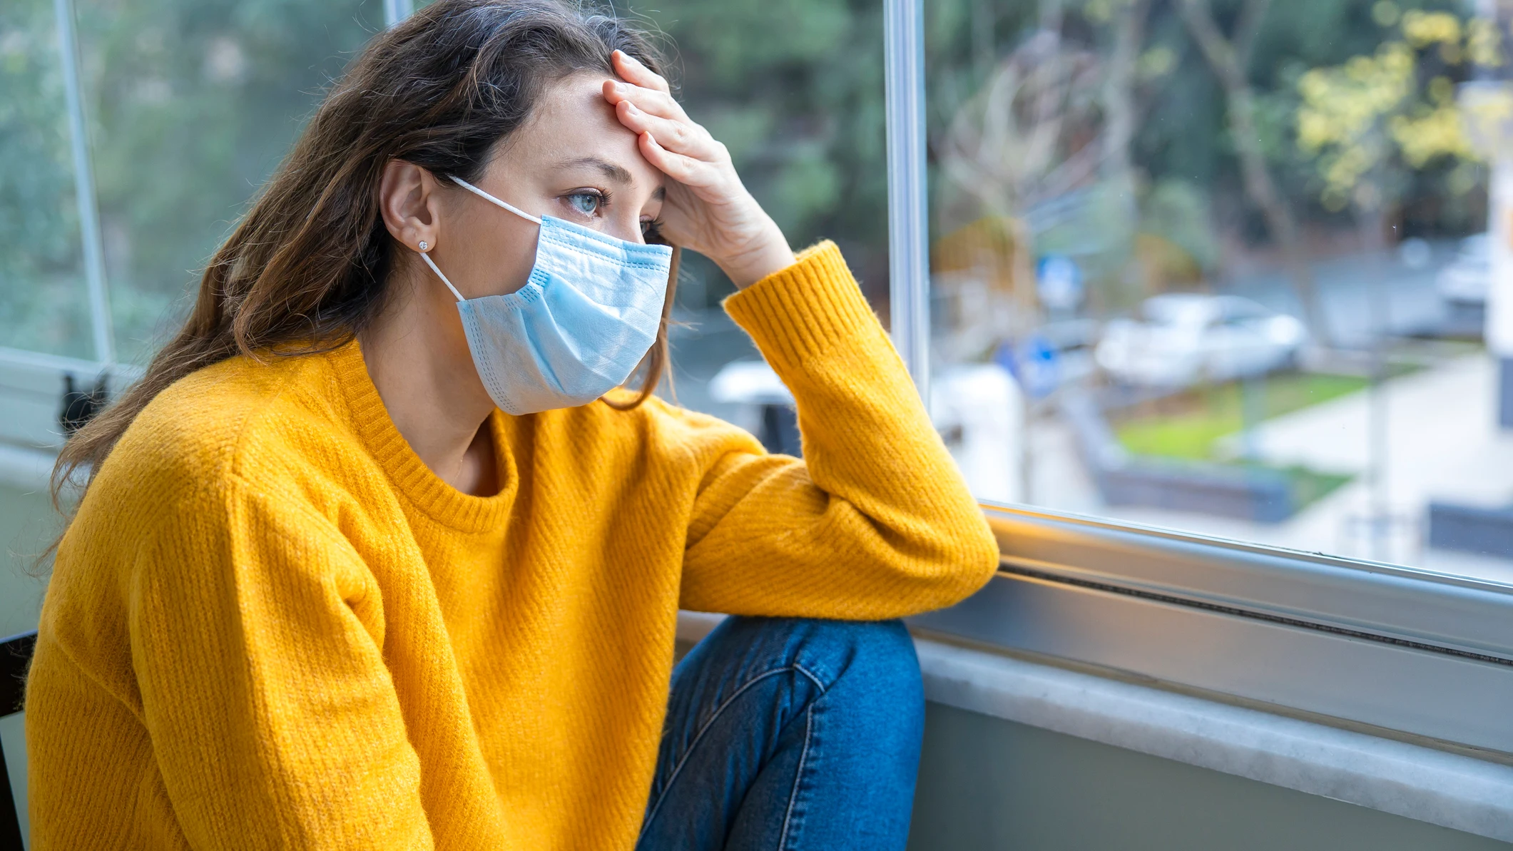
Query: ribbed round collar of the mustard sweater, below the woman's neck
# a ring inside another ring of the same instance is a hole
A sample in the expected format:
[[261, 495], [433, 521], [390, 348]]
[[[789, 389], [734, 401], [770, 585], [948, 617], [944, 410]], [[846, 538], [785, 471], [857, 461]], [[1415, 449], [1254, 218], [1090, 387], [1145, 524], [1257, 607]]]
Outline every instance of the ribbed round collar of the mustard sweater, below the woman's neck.
[[404, 498], [434, 521], [458, 531], [486, 531], [499, 528], [514, 503], [519, 475], [504, 436], [501, 412], [489, 415], [493, 430], [493, 451], [499, 465], [499, 492], [493, 497], [474, 497], [452, 488], [425, 466], [410, 444], [389, 418], [378, 388], [368, 376], [368, 365], [359, 342], [353, 342], [327, 354], [336, 380], [342, 386], [353, 427], [368, 451], [383, 466], [389, 480]]

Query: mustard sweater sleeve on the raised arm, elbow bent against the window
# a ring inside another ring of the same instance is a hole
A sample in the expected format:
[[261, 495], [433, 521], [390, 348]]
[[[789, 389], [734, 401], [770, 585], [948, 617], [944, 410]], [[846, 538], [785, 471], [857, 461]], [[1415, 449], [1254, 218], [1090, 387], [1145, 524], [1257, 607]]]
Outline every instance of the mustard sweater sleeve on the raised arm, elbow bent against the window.
[[878, 619], [986, 583], [993, 533], [840, 250], [822, 242], [725, 307], [793, 392], [803, 460], [749, 447], [713, 460], [681, 606]]

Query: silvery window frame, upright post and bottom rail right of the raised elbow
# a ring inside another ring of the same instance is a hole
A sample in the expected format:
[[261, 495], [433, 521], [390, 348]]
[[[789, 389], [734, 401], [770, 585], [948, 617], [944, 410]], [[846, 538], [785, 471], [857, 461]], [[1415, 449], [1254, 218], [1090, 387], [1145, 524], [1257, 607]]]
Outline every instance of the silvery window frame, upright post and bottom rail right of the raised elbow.
[[[893, 339], [927, 394], [923, 2], [884, 0]], [[999, 574], [915, 627], [1513, 756], [1513, 588], [983, 504]]]

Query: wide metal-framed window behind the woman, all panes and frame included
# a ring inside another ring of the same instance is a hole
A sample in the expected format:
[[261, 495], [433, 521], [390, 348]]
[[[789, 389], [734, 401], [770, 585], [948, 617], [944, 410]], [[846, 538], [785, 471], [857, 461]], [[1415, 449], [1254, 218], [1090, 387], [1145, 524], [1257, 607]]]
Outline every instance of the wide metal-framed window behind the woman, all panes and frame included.
[[[142, 362], [325, 83], [409, 6], [0, 8], [14, 551], [47, 538], [17, 524], [48, 513], [64, 377]], [[915, 625], [1513, 753], [1513, 171], [1489, 162], [1508, 21], [1448, 0], [617, 8], [675, 39], [688, 112], [794, 247], [840, 242], [990, 506], [999, 578]], [[663, 392], [797, 451], [729, 292], [688, 257]], [[18, 606], [6, 631], [35, 622]]]

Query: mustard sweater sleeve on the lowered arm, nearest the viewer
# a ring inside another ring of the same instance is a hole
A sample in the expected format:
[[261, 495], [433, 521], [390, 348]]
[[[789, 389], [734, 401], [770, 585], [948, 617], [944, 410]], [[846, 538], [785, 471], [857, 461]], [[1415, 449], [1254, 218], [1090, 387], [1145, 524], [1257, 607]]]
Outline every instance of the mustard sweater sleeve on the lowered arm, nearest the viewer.
[[126, 589], [142, 721], [189, 845], [431, 848], [366, 565], [301, 501], [239, 478], [192, 501]]

